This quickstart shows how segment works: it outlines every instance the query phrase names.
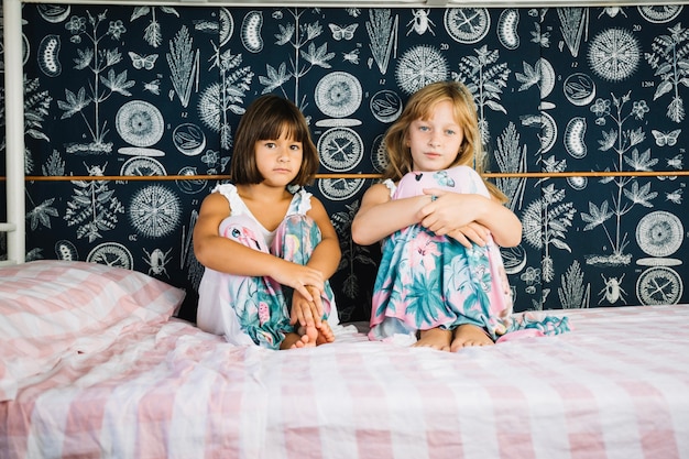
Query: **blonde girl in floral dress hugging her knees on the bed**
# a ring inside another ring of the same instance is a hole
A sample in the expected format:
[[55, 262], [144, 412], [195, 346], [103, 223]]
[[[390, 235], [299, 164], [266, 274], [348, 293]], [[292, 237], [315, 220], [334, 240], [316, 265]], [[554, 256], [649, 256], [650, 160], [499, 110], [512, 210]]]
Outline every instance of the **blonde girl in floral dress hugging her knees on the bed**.
[[499, 245], [518, 244], [522, 225], [481, 177], [486, 156], [467, 87], [419, 89], [385, 146], [383, 181], [367, 190], [352, 222], [357, 243], [383, 242], [369, 338], [457, 351], [520, 328], [542, 334], [543, 324], [512, 319]]

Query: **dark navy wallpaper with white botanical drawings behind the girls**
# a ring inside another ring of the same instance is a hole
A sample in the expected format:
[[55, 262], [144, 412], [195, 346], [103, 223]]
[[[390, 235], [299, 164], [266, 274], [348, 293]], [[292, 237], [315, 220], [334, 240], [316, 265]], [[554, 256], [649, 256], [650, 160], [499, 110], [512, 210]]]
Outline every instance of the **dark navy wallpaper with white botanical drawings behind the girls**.
[[412, 92], [455, 79], [524, 226], [503, 250], [517, 310], [689, 303], [682, 6], [28, 3], [23, 19], [30, 260], [150, 273], [187, 291], [193, 319], [198, 206], [245, 107], [274, 92], [309, 120], [340, 315], [365, 320], [380, 253], [349, 228], [385, 165], [382, 135]]

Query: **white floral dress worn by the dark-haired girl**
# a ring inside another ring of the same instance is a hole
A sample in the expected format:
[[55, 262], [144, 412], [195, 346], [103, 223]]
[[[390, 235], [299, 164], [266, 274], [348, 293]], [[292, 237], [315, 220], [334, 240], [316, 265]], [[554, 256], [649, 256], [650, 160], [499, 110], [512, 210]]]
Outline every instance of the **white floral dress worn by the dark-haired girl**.
[[[321, 240], [316, 222], [306, 215], [311, 195], [294, 193], [285, 219], [274, 232], [267, 231], [251, 214], [234, 185], [218, 185], [214, 193], [228, 199], [232, 214], [220, 223], [220, 236], [275, 256], [306, 264]], [[289, 324], [293, 289], [270, 277], [249, 277], [206, 267], [198, 289], [197, 325], [223, 335], [234, 345], [259, 345], [278, 349]], [[322, 295], [324, 319], [338, 324], [335, 296], [326, 282]]]

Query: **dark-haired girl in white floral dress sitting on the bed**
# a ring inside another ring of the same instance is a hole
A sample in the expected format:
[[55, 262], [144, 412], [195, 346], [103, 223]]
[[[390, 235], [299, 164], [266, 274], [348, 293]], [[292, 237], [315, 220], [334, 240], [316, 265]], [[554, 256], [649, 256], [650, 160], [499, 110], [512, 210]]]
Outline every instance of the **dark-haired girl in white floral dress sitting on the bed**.
[[236, 345], [311, 347], [335, 339], [328, 278], [340, 249], [322, 204], [307, 193], [318, 152], [297, 107], [254, 100], [237, 128], [231, 183], [201, 203], [194, 252], [206, 266], [197, 325]]

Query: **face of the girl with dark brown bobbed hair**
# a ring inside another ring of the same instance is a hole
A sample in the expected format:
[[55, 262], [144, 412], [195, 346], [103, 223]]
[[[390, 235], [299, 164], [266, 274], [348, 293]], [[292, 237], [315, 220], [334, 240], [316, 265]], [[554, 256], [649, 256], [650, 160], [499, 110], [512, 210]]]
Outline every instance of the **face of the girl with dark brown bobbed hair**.
[[302, 142], [288, 138], [283, 130], [278, 139], [258, 141], [255, 155], [263, 183], [281, 187], [287, 186], [299, 173], [304, 150]]

